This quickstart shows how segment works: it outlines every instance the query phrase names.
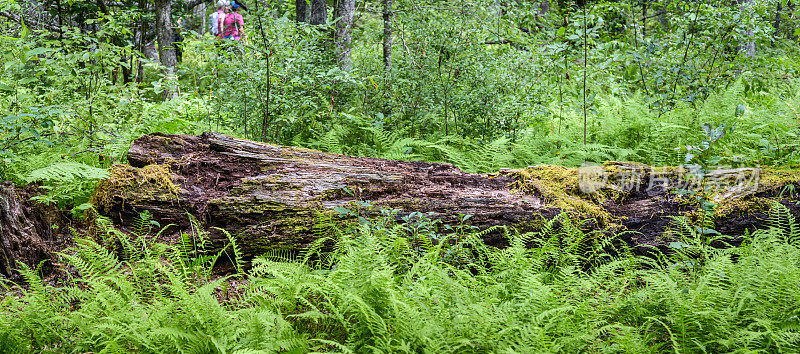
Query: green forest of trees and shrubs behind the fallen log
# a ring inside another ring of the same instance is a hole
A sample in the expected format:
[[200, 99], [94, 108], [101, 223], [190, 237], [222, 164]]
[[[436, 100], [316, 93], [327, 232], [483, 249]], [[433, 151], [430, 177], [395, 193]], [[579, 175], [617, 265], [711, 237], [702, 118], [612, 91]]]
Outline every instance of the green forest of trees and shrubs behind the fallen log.
[[791, 2], [345, 3], [249, 4], [238, 45], [197, 1], [4, 1], [0, 173], [80, 205], [132, 139], [208, 130], [488, 172], [676, 165], [725, 124], [713, 162], [798, 162]]

